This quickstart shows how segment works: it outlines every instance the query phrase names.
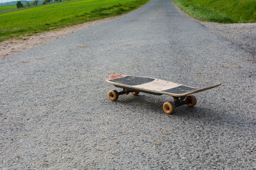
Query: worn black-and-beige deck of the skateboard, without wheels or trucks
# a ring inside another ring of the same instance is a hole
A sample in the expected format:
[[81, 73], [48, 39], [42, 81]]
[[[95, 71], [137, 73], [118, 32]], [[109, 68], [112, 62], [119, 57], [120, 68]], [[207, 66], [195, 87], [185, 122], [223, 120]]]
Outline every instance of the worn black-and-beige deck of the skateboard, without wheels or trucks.
[[109, 84], [123, 89], [146, 92], [155, 95], [166, 94], [173, 97], [183, 97], [220, 86], [212, 85], [205, 88], [190, 87], [172, 81], [150, 78], [145, 76], [127, 76], [118, 73], [109, 73], [106, 76]]

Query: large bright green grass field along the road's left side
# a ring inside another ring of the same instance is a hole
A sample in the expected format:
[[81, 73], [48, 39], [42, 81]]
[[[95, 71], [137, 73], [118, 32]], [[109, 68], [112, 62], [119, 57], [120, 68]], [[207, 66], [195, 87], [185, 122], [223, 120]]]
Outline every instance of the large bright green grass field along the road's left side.
[[72, 0], [0, 14], [0, 41], [120, 15], [148, 0]]

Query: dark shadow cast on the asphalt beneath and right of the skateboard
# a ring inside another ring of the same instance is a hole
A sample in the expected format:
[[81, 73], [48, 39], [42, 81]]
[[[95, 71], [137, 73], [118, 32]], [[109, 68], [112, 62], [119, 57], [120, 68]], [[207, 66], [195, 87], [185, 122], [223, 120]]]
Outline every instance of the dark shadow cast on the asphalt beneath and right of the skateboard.
[[[170, 99], [172, 101], [172, 99]], [[156, 114], [157, 115], [164, 115], [166, 114], [163, 112], [162, 106], [166, 100], [163, 97], [151, 97], [151, 96], [125, 96], [121, 99], [118, 99], [119, 103], [124, 104], [125, 106], [129, 106], [137, 110], [145, 111], [147, 114]], [[216, 126], [224, 126], [224, 127], [232, 127], [232, 128], [246, 128], [246, 127], [254, 127], [255, 122], [250, 120], [250, 118], [246, 117], [238, 117], [236, 113], [228, 113], [225, 111], [212, 110], [210, 108], [205, 108], [199, 105], [196, 105], [193, 108], [188, 108], [185, 106], [180, 106], [176, 108], [175, 112], [171, 115], [167, 115], [170, 120], [173, 118], [175, 119], [182, 119], [182, 120], [189, 120], [192, 122], [198, 122], [203, 124], [211, 124]]]

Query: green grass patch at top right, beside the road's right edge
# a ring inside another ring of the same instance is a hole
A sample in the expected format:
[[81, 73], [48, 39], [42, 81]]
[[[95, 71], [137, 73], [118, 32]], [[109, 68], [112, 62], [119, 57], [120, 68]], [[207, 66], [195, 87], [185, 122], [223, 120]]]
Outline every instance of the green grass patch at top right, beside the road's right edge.
[[172, 0], [200, 20], [221, 23], [256, 22], [256, 0]]

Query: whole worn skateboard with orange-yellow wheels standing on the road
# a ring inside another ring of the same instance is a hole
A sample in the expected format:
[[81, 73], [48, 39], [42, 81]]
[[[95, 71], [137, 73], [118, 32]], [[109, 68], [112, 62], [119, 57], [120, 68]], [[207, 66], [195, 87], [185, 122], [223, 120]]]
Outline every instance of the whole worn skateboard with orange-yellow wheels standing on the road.
[[188, 107], [195, 106], [196, 97], [192, 96], [191, 94], [203, 92], [221, 85], [217, 84], [205, 88], [196, 88], [157, 78], [128, 76], [117, 73], [109, 73], [106, 76], [106, 81], [111, 85], [115, 85], [115, 87], [123, 89], [120, 92], [117, 92], [116, 90], [109, 91], [108, 97], [111, 101], [116, 101], [118, 96], [122, 94], [131, 93], [132, 95], [136, 96], [140, 92], [154, 94], [157, 96], [161, 96], [163, 94], [172, 96], [174, 102], [170, 101], [163, 104], [163, 111], [166, 114], [173, 113], [175, 108], [184, 104], [186, 104]]

